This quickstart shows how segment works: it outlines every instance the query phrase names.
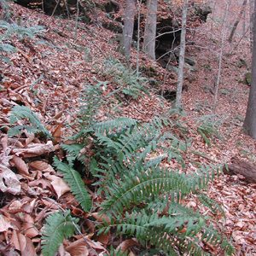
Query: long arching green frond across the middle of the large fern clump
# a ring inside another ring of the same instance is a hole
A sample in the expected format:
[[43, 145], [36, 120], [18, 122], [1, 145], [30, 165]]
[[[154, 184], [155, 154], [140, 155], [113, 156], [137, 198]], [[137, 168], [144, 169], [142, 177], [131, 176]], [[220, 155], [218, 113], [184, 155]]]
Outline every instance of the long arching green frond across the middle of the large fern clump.
[[154, 168], [137, 174], [133, 172], [132, 176], [125, 176], [123, 182], [114, 183], [109, 190], [111, 195], [102, 204], [102, 211], [117, 216], [124, 207], [148, 198], [154, 199], [165, 192], [173, 195], [172, 201], [177, 201], [188, 195], [191, 187], [183, 174]]

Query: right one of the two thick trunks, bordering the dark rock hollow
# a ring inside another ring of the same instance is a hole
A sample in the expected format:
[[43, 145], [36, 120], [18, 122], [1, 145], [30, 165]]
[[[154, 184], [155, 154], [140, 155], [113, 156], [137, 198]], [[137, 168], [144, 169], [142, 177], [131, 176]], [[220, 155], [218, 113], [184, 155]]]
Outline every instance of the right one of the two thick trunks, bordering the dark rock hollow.
[[148, 0], [148, 15], [144, 30], [143, 50], [152, 60], [155, 60], [156, 18], [157, 0]]

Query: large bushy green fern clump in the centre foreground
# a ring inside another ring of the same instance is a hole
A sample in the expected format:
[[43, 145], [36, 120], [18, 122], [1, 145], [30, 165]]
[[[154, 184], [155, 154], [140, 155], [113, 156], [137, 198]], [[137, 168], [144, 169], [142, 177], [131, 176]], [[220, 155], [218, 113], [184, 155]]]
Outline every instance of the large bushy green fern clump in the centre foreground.
[[[91, 207], [89, 197], [78, 196], [83, 183], [74, 183], [70, 176], [76, 172], [74, 161], [79, 160], [96, 180], [92, 186], [103, 198], [98, 207], [110, 219], [97, 225], [98, 234], [112, 230], [114, 236], [136, 237], [142, 247], [168, 255], [202, 255], [205, 253], [202, 241], [207, 241], [231, 255], [233, 247], [212, 227], [210, 217], [183, 203], [195, 194], [210, 211], [222, 212], [221, 207], [203, 193], [209, 181], [218, 175], [218, 166], [199, 166], [194, 174], [188, 175], [162, 165], [164, 160], [172, 160], [177, 166], [185, 167], [183, 155], [189, 145], [172, 132], [172, 127], [177, 130], [183, 125], [176, 125], [177, 120], [170, 116], [155, 117], [149, 123], [125, 117], [97, 122], [101, 89], [89, 89], [85, 98], [90, 95], [91, 98], [81, 112], [84, 113], [80, 122], [83, 132], [76, 136], [77, 143], [63, 145], [67, 163], [55, 159], [55, 167], [64, 173], [86, 211]], [[90, 156], [85, 153], [83, 157], [81, 148], [86, 148], [88, 142]], [[63, 234], [60, 237], [63, 239]]]

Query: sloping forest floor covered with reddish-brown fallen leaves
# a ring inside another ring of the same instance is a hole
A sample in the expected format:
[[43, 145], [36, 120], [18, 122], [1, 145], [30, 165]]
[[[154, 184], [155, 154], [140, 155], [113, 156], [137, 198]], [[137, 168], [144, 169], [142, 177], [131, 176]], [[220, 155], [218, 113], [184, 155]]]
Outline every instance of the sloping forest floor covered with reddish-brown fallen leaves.
[[[68, 191], [67, 184], [43, 156], [47, 150], [58, 151], [61, 142], [72, 134], [69, 127], [79, 112], [79, 95], [84, 84], [108, 80], [108, 90], [113, 89], [112, 78], [103, 73], [104, 59], [112, 56], [124, 60], [124, 57], [116, 51], [118, 44], [114, 33], [100, 26], [80, 24], [75, 38], [73, 20], [51, 18], [16, 4], [11, 4], [11, 9], [13, 20], [21, 20], [24, 26], [44, 26], [46, 32], [33, 40], [19, 40], [17, 37], [9, 40], [18, 50], [9, 55], [11, 64], [0, 62], [3, 76], [0, 82], [0, 126], [9, 127], [11, 108], [25, 105], [38, 114], [52, 133], [54, 143], [45, 144], [29, 134], [9, 138], [6, 130], [0, 131], [1, 167], [15, 168], [15, 178], [20, 180], [18, 185], [4, 184], [3, 176], [0, 177], [0, 254], [36, 255], [40, 251], [38, 242], [45, 216], [59, 207], [78, 206], [71, 202], [72, 195], [65, 193]], [[207, 22], [196, 30], [193, 41], [195, 43], [187, 51], [196, 61], [195, 72], [188, 91], [183, 92], [186, 115], [182, 118], [189, 126], [189, 137], [193, 138], [191, 150], [203, 154], [197, 155], [197, 160], [202, 163], [229, 163], [236, 156], [256, 164], [256, 143], [242, 131], [250, 89], [247, 84], [241, 83], [251, 61], [248, 38], [241, 42], [237, 39], [233, 44], [225, 42], [215, 111], [212, 108], [212, 90], [218, 74], [220, 32]], [[236, 44], [238, 46], [233, 51]], [[131, 58], [135, 64], [135, 51]], [[241, 65], [241, 59], [247, 66]], [[165, 78], [166, 70], [147, 61], [144, 55], [141, 55], [140, 61], [144, 67], [157, 69], [158, 75], [154, 79]], [[164, 85], [168, 84], [173, 84], [173, 81], [166, 79]], [[119, 113], [148, 121], [167, 108], [172, 108], [170, 102], [151, 94], [125, 104]], [[106, 119], [106, 115], [113, 114], [111, 111], [106, 113], [102, 109], [98, 118]], [[218, 136], [207, 145], [196, 128], [199, 120], [211, 116], [218, 121]], [[28, 153], [31, 147], [33, 158], [28, 163], [26, 158], [31, 157]], [[224, 208], [226, 218], [215, 217], [213, 220], [218, 229], [231, 239], [236, 255], [256, 255], [256, 185], [246, 183], [239, 176], [221, 175], [210, 184], [207, 194]], [[49, 198], [55, 199], [55, 203]], [[198, 207], [196, 198], [192, 198], [189, 205]], [[207, 209], [201, 207], [201, 212], [204, 211]], [[108, 241], [102, 239], [91, 241], [90, 246], [104, 253], [107, 244]], [[61, 254], [60, 251], [60, 254], [64, 255], [63, 252]], [[218, 252], [212, 248], [212, 254], [217, 255]]]

